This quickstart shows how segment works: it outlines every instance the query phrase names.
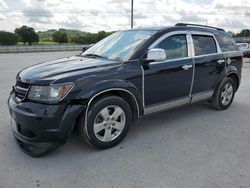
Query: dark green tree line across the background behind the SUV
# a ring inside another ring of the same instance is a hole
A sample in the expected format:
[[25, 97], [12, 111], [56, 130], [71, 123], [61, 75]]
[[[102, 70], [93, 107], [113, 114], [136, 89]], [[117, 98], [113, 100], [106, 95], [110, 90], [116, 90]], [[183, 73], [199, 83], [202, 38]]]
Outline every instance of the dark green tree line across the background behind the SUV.
[[[99, 40], [107, 37], [113, 32], [99, 31], [98, 33], [85, 33], [83, 35], [67, 36], [65, 29], [59, 29], [52, 34], [52, 41], [62, 43], [75, 43], [75, 44], [93, 44]], [[228, 32], [233, 37], [250, 37], [250, 30], [243, 29], [239, 33]], [[0, 31], [0, 45], [16, 45], [18, 42], [23, 44], [32, 45], [39, 42], [39, 35], [35, 32], [34, 28], [22, 26], [16, 28], [14, 33]]]

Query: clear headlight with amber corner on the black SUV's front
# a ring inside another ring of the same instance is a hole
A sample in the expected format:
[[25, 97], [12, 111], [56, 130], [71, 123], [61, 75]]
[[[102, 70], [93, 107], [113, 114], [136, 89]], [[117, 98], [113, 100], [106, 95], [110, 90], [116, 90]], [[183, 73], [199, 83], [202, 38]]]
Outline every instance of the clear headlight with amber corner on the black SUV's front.
[[28, 99], [41, 102], [58, 102], [73, 88], [73, 83], [50, 86], [31, 86]]

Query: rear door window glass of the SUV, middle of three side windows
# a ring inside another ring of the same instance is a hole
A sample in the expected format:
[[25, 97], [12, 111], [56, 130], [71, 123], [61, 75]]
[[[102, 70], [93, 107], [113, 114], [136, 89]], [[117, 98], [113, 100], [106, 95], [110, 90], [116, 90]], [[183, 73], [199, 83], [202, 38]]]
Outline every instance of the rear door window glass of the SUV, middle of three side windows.
[[195, 55], [217, 53], [216, 42], [212, 36], [192, 35]]

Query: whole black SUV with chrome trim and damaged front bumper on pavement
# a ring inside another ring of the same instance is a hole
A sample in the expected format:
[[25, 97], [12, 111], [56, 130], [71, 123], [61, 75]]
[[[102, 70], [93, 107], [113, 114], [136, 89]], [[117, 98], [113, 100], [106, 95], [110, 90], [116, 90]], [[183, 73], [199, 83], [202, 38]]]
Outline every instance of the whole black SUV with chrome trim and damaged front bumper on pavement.
[[145, 115], [198, 101], [225, 110], [242, 58], [220, 28], [179, 23], [116, 32], [80, 55], [18, 73], [8, 100], [14, 137], [39, 156], [77, 126], [89, 144], [109, 148]]

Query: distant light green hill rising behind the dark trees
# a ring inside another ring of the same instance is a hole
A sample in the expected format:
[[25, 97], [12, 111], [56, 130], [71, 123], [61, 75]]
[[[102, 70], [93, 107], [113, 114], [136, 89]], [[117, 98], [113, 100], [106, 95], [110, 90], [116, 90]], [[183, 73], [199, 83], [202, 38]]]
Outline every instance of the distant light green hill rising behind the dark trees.
[[[56, 29], [50, 29], [48, 31], [38, 31], [37, 34], [39, 36], [40, 41], [52, 41], [52, 35], [56, 31]], [[65, 32], [69, 39], [78, 36], [85, 36], [86, 34], [88, 34], [87, 32], [74, 29], [59, 29], [59, 31]]]

